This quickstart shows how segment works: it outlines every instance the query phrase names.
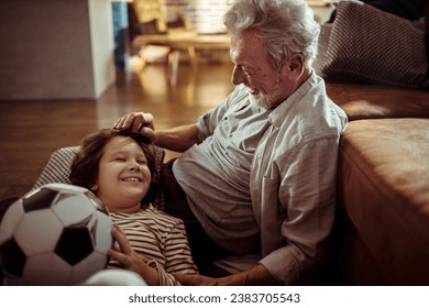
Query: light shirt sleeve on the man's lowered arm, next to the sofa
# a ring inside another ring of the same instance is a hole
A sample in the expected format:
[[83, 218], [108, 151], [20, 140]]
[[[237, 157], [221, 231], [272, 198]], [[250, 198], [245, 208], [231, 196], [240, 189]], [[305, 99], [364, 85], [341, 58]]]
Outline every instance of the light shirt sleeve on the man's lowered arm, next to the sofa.
[[283, 284], [306, 278], [323, 256], [334, 220], [337, 156], [338, 138], [322, 136], [299, 146], [279, 167], [280, 186], [273, 195], [280, 221], [267, 218], [266, 223], [282, 226], [285, 244], [260, 263]]

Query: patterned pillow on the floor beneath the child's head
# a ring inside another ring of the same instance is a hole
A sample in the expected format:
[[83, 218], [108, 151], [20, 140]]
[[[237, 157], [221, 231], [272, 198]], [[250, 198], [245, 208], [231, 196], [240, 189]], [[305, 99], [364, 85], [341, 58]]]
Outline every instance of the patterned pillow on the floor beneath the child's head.
[[[46, 166], [42, 170], [42, 174], [36, 179], [33, 189], [40, 188], [43, 185], [50, 183], [65, 183], [70, 184], [68, 175], [70, 174], [70, 166], [73, 158], [79, 151], [79, 146], [68, 146], [56, 150], [52, 153]], [[153, 197], [153, 206], [163, 209], [164, 207], [164, 194], [160, 185], [161, 169], [164, 162], [165, 151], [158, 146], [152, 145], [151, 151], [155, 158], [155, 170], [152, 173], [151, 187]]]

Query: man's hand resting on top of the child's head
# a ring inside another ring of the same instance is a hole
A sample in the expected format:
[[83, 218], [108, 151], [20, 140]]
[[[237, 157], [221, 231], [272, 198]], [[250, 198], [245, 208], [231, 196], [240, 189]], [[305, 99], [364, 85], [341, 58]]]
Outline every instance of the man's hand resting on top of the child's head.
[[153, 116], [144, 112], [131, 112], [117, 120], [113, 124], [114, 130], [130, 130], [133, 133], [140, 133], [152, 142], [155, 142], [155, 128]]

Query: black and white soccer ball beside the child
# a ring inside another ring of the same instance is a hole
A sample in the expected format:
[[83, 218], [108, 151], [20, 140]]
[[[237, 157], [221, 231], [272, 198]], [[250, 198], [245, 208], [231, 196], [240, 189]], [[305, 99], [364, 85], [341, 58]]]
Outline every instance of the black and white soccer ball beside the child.
[[48, 184], [18, 199], [0, 224], [9, 285], [78, 285], [106, 268], [111, 219], [88, 189]]

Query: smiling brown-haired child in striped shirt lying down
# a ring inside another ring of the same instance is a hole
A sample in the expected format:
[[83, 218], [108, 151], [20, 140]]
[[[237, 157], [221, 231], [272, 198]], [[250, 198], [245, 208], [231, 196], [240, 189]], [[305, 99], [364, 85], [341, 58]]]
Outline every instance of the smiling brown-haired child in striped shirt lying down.
[[82, 141], [69, 177], [94, 191], [114, 222], [110, 267], [135, 272], [147, 285], [179, 285], [175, 273], [198, 271], [183, 221], [151, 204], [154, 158], [148, 146], [139, 134], [100, 130]]

